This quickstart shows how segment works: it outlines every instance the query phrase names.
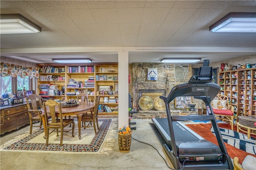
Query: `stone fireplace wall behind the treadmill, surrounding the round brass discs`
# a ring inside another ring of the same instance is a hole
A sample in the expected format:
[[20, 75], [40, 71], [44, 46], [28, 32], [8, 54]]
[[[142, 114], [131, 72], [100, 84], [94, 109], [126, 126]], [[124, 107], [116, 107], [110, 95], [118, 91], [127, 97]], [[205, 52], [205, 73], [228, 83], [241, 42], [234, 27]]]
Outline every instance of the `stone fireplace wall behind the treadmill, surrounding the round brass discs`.
[[[157, 80], [148, 80], [148, 68], [157, 68]], [[134, 119], [166, 117], [166, 111], [142, 111], [138, 104], [142, 93], [162, 93], [167, 96], [172, 87], [187, 83], [191, 75], [189, 64], [132, 63], [132, 108], [139, 111], [133, 115]]]

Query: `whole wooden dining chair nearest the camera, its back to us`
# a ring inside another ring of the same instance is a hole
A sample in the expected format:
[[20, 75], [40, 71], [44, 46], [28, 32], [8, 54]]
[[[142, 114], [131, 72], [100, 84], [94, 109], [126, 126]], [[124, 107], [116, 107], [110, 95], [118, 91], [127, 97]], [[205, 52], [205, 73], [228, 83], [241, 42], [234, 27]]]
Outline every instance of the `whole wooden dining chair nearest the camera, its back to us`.
[[[55, 107], [57, 106], [57, 107]], [[47, 111], [46, 107], [49, 107], [49, 110]], [[59, 136], [58, 134], [58, 129], [60, 129], [61, 134], [60, 134], [60, 146], [62, 146], [62, 141], [63, 141], [63, 135], [64, 132], [65, 134], [67, 132], [69, 132], [70, 130], [72, 130], [72, 137], [74, 137], [74, 128], [75, 128], [75, 123], [73, 119], [63, 119], [62, 117], [62, 111], [61, 111], [61, 103], [58, 103], [54, 100], [48, 100], [45, 101], [43, 103], [43, 108], [44, 108], [44, 117], [45, 119], [47, 118], [46, 113], [50, 113], [50, 115], [52, 116], [51, 121], [49, 121], [48, 119], [46, 119], [46, 146], [48, 146], [48, 142], [49, 142], [49, 134], [51, 134], [53, 131], [57, 131], [57, 136]], [[56, 110], [59, 110], [59, 116], [60, 119], [57, 119], [56, 117]], [[72, 129], [68, 130], [68, 131], [64, 131], [64, 127], [67, 127], [68, 125], [72, 124]], [[50, 132], [50, 129], [54, 129], [52, 130], [52, 132]]]

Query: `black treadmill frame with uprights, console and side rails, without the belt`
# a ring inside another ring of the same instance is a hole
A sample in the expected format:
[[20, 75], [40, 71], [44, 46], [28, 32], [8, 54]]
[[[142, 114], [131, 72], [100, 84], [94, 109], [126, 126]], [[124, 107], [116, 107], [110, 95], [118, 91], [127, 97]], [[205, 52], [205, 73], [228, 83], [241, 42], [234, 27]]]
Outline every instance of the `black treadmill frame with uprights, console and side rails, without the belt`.
[[[224, 144], [224, 140], [221, 136], [220, 130], [218, 128], [217, 121], [215, 119], [214, 113], [212, 111], [212, 107], [210, 102], [220, 91], [220, 86], [215, 83], [207, 83], [209, 81], [198, 81], [196, 82], [196, 77], [191, 77], [188, 83], [180, 84], [172, 88], [168, 97], [160, 96], [160, 99], [164, 100], [166, 106], [166, 113], [168, 119], [168, 126], [170, 130], [170, 138], [171, 147], [168, 144], [164, 144], [163, 148], [168, 155], [172, 165], [175, 169], [182, 168], [182, 164], [179, 161], [178, 152], [176, 149], [174, 131], [172, 127], [172, 121], [193, 121], [200, 120], [206, 121], [210, 120], [212, 123], [212, 127], [216, 134], [216, 138], [218, 140], [218, 145], [223, 154], [223, 162], [220, 164], [184, 164], [183, 169], [233, 169], [233, 164], [228, 152], [226, 150], [226, 146]], [[169, 103], [179, 96], [194, 96], [196, 99], [202, 99], [206, 104], [207, 115], [195, 115], [195, 116], [171, 116]]]

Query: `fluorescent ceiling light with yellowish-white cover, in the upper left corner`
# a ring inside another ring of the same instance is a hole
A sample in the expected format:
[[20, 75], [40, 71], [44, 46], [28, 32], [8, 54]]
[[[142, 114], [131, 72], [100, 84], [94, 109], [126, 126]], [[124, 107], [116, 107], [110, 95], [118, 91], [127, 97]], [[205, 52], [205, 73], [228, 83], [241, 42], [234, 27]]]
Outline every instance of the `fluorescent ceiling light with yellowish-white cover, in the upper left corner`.
[[20, 14], [1, 14], [0, 34], [41, 32], [41, 27]]

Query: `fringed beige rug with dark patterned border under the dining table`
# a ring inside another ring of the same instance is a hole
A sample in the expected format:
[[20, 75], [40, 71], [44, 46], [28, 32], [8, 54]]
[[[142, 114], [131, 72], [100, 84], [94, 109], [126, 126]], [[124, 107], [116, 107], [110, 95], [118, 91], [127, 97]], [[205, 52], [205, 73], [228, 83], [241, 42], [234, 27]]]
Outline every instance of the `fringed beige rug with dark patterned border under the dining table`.
[[[94, 128], [82, 128], [81, 140], [78, 139], [78, 126], [75, 125], [74, 137], [71, 131], [64, 134], [63, 145], [60, 146], [60, 136], [56, 132], [50, 134], [49, 144], [46, 147], [44, 129], [33, 130], [32, 134], [17, 136], [15, 139], [1, 145], [1, 151], [71, 153], [71, 154], [110, 154], [114, 146], [117, 133], [116, 119], [99, 119], [97, 134]], [[72, 127], [68, 127], [72, 128]], [[60, 133], [60, 132], [59, 132]]]

